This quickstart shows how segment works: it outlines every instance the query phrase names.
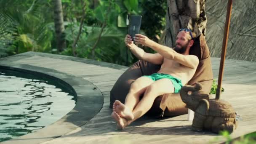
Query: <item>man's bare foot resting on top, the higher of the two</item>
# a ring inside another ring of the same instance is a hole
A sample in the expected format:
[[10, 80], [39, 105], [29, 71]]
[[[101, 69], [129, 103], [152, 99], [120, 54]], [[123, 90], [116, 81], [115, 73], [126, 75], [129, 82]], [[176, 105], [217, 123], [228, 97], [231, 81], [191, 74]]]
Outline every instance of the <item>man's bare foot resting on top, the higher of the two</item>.
[[126, 120], [133, 120], [133, 118], [134, 118], [131, 110], [128, 109], [127, 107], [125, 107], [125, 105], [121, 101], [118, 101], [118, 100], [115, 100], [115, 102], [113, 104], [113, 112], [117, 112], [117, 114], [120, 117], [123, 117]]

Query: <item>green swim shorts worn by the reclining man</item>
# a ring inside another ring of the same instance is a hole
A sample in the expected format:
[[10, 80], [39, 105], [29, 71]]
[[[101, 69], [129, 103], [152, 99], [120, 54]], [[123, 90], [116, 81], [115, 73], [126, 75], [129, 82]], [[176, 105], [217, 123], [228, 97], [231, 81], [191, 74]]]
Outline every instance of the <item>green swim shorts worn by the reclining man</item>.
[[168, 74], [154, 73], [152, 75], [144, 75], [144, 77], [149, 77], [150, 79], [152, 79], [154, 81], [160, 80], [162, 78], [170, 79], [174, 86], [174, 93], [179, 93], [179, 91], [181, 90], [181, 87], [183, 86], [181, 83], [181, 80], [179, 78], [173, 77]]

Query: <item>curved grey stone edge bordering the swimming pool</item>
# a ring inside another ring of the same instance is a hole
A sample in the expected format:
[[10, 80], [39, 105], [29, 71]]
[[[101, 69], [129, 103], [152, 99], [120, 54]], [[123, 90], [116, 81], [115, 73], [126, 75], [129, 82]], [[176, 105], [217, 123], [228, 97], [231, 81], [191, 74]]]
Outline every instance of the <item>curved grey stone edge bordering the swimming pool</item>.
[[14, 64], [11, 62], [8, 64], [0, 64], [0, 69], [1, 68], [59, 80], [66, 86], [70, 86], [77, 96], [75, 107], [58, 121], [36, 132], [3, 141], [1, 144], [38, 144], [55, 139], [86, 124], [103, 106], [103, 95], [99, 88], [88, 80], [84, 80], [82, 77], [75, 77], [53, 69], [35, 67], [27, 64]]

